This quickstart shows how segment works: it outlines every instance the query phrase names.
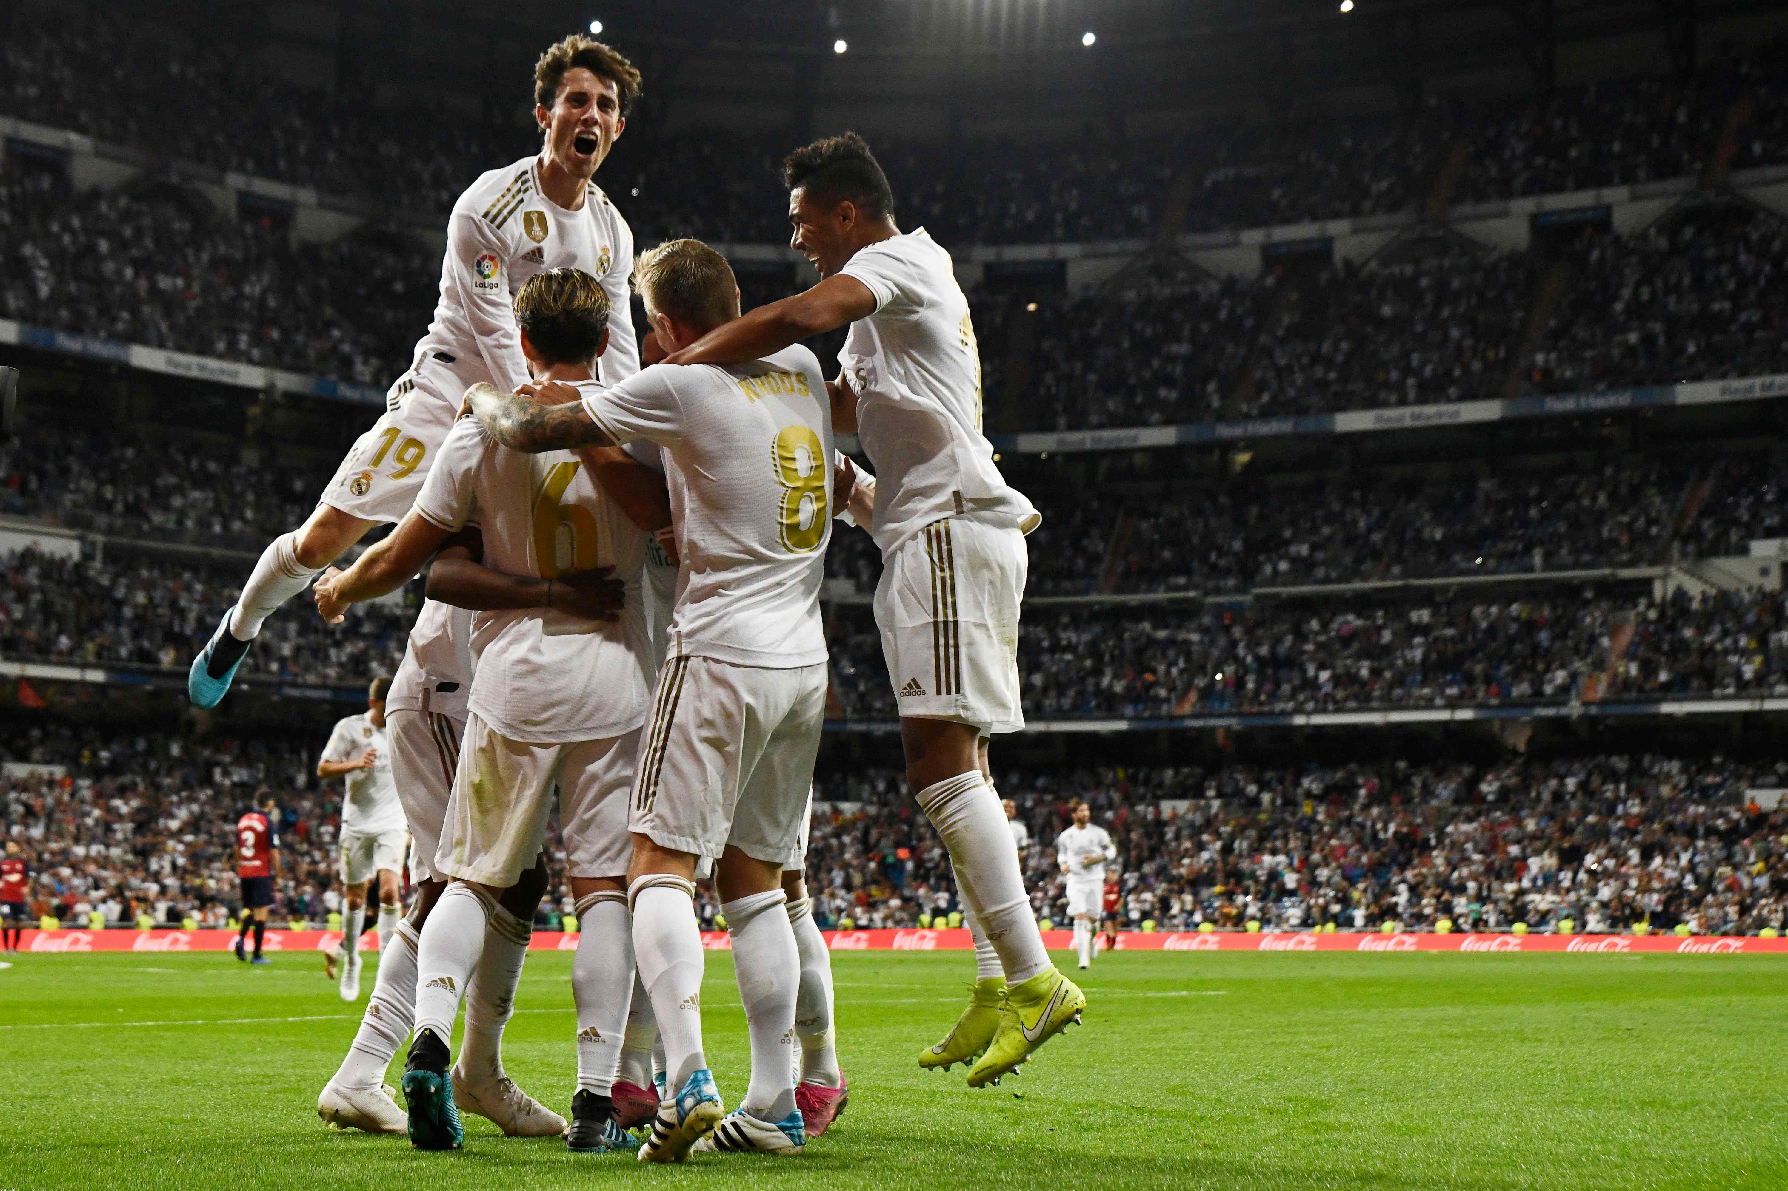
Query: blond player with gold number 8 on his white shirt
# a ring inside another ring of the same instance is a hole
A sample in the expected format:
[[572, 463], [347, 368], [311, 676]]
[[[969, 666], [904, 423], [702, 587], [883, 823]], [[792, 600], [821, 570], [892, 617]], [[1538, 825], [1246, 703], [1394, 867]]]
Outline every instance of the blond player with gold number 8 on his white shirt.
[[[665, 348], [738, 316], [731, 268], [699, 241], [660, 245], [635, 273]], [[628, 896], [674, 1096], [638, 1157], [683, 1161], [697, 1143], [801, 1154], [801, 973], [783, 866], [801, 854], [826, 714], [819, 589], [833, 448], [819, 361], [796, 345], [731, 368], [647, 368], [604, 393], [467, 396], [497, 441], [519, 450], [637, 437], [663, 448], [683, 570], [633, 786]], [[751, 1030], [751, 1084], [731, 1114], [701, 1043], [697, 857], [715, 861]]]

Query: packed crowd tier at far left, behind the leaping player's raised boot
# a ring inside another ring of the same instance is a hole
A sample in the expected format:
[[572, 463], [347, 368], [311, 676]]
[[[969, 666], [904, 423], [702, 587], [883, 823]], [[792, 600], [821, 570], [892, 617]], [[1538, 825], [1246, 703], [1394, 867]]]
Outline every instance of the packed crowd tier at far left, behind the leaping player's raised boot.
[[[184, 673], [236, 602], [241, 564], [63, 559], [38, 550], [0, 555], [0, 657], [113, 670]], [[243, 661], [247, 679], [359, 686], [393, 673], [415, 611], [356, 605], [329, 627], [302, 604], [266, 621]]]

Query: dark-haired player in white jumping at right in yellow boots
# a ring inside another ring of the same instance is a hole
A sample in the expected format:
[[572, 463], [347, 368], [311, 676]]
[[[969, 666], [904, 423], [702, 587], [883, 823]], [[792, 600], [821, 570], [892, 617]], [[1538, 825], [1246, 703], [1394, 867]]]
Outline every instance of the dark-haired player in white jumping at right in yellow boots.
[[[790, 243], [821, 282], [667, 357], [758, 359], [849, 323], [833, 421], [876, 466], [876, 627], [901, 712], [907, 780], [949, 850], [974, 932], [976, 986], [924, 1068], [974, 1061], [996, 1084], [1080, 1020], [1085, 996], [1042, 946], [987, 768], [987, 739], [1025, 727], [1017, 623], [1041, 516], [1005, 482], [982, 434], [982, 370], [949, 254], [901, 232], [881, 166], [856, 134], [789, 155]], [[855, 496], [853, 496], [855, 498]], [[978, 1059], [976, 1059], [978, 1057]]]

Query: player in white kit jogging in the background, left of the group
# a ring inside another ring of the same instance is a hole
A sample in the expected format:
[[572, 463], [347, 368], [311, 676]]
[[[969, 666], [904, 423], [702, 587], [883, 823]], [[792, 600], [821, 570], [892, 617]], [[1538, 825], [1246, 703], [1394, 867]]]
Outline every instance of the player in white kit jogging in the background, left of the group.
[[[384, 695], [392, 679], [367, 687], [367, 711], [334, 725], [316, 762], [316, 777], [343, 779], [342, 830], [342, 1000], [359, 998], [359, 936], [367, 927], [367, 886], [379, 882], [379, 948], [392, 941], [402, 914], [404, 809], [392, 784], [392, 743], [384, 730]], [[334, 975], [334, 966], [329, 966]]]

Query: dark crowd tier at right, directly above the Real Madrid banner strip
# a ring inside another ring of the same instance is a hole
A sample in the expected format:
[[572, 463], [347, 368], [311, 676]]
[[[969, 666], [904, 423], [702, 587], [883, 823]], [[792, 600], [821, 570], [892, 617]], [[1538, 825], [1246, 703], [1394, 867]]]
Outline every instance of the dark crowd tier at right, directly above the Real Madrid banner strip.
[[[1554, 264], [1561, 296], [1529, 368], [1514, 352]], [[1025, 364], [983, 346], [1010, 429], [1282, 418], [1783, 371], [1784, 268], [1788, 223], [1715, 209], [1556, 252], [1157, 282], [1035, 311], [982, 298], [976, 323], [1001, 343], [1037, 320]]]

